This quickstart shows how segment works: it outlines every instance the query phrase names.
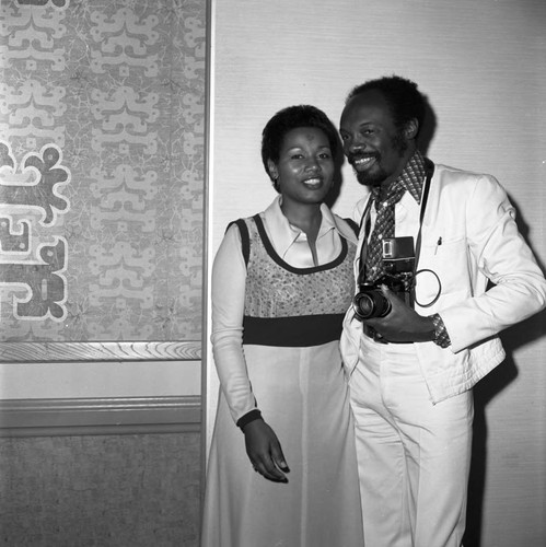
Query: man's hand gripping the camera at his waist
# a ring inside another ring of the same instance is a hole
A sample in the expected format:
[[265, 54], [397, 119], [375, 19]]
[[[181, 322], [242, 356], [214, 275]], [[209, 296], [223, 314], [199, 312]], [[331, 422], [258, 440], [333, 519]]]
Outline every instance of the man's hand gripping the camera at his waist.
[[391, 312], [385, 317], [365, 319], [363, 324], [373, 327], [385, 341], [418, 342], [434, 339], [434, 324], [430, 317], [419, 315], [385, 286], [381, 290], [391, 301]]

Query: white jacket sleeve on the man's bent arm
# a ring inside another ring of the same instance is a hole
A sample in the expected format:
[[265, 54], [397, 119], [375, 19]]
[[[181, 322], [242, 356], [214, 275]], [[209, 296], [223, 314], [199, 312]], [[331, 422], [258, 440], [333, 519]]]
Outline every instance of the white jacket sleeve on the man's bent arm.
[[495, 287], [439, 312], [453, 352], [537, 313], [546, 299], [546, 281], [504, 189], [483, 176], [467, 203], [467, 244], [476, 267]]

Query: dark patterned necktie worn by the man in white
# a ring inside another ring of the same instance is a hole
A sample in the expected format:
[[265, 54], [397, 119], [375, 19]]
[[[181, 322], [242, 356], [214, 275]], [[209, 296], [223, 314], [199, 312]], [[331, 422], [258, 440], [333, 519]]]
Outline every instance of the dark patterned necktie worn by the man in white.
[[383, 268], [383, 240], [394, 237], [394, 206], [400, 200], [405, 191], [406, 188], [402, 182], [396, 181], [388, 189], [385, 200], [379, 201], [379, 188], [372, 196], [377, 216], [365, 256], [367, 281], [373, 282], [385, 274]]

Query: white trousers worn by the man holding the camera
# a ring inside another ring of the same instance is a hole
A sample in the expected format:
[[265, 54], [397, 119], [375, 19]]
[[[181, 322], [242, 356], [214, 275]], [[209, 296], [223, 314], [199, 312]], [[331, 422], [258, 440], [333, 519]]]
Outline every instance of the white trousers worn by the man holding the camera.
[[350, 381], [367, 547], [460, 547], [472, 393], [432, 405], [411, 344], [363, 336]]

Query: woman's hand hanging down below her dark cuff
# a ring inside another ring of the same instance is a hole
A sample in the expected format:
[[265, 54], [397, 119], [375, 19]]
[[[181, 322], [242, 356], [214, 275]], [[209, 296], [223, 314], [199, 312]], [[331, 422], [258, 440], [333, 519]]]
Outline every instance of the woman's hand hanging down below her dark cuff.
[[284, 473], [289, 473], [290, 469], [275, 431], [260, 419], [247, 423], [243, 433], [246, 453], [254, 469], [275, 482], [288, 482]]

